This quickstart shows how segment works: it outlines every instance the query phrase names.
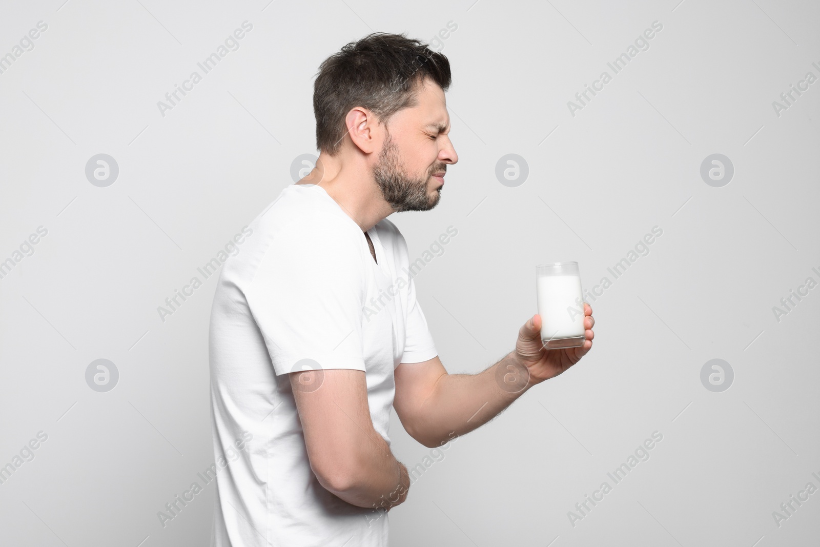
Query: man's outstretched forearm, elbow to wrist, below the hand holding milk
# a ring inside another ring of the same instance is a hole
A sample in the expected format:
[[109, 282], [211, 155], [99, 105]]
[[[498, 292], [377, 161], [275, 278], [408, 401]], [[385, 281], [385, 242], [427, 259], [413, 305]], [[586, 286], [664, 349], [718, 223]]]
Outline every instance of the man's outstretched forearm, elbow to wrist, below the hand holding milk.
[[478, 374], [445, 374], [421, 405], [415, 431], [427, 446], [464, 435], [497, 416], [532, 385], [526, 367], [510, 352]]

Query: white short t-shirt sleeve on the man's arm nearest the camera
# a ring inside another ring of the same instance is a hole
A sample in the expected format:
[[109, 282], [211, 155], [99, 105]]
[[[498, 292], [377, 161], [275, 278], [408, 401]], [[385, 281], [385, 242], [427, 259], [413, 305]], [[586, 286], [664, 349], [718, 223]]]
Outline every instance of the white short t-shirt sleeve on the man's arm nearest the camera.
[[276, 375], [307, 368], [366, 370], [364, 275], [343, 230], [280, 232], [245, 290]]

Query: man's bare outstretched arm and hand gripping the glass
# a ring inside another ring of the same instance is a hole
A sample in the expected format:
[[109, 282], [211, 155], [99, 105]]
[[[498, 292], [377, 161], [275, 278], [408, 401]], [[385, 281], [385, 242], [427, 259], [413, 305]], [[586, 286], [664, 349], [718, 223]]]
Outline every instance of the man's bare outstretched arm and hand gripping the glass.
[[448, 374], [440, 358], [402, 363], [394, 371], [393, 406], [404, 429], [429, 448], [489, 422], [533, 385], [558, 376], [592, 348], [594, 318], [584, 304], [585, 341], [580, 348], [550, 349], [540, 337], [541, 318], [518, 331], [516, 349], [478, 374]]

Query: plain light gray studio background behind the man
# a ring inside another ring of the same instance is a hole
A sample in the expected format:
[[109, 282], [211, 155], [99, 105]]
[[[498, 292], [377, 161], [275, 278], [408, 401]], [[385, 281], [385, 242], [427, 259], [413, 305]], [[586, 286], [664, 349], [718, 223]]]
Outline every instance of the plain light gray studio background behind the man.
[[[207, 326], [215, 278], [173, 316], [157, 306], [293, 183], [315, 153], [320, 62], [372, 30], [442, 40], [459, 162], [438, 207], [391, 217], [449, 372], [479, 372], [535, 313], [535, 265], [575, 260], [585, 289], [653, 226], [663, 235], [594, 302], [593, 351], [454, 443], [389, 513], [391, 545], [809, 545], [820, 492], [815, 288], [820, 281], [816, 2], [3, 2], [0, 54], [48, 30], [0, 75], [0, 465], [48, 440], [0, 485], [3, 545], [206, 545], [214, 486], [157, 512], [213, 462]], [[240, 42], [171, 112], [157, 101], [243, 21]], [[647, 51], [613, 61], [649, 28]], [[567, 101], [613, 75], [581, 112]], [[86, 162], [116, 159], [107, 188]], [[499, 183], [505, 154], [527, 180]], [[710, 154], [735, 175], [714, 188]], [[332, 268], [328, 275], [333, 275]], [[200, 276], [200, 279], [201, 276]], [[98, 358], [120, 378], [91, 390]], [[729, 390], [700, 370], [731, 364]], [[394, 452], [430, 449], [394, 416]], [[653, 431], [647, 462], [572, 526], [567, 512]], [[200, 481], [201, 482], [201, 481]], [[141, 543], [142, 542], [142, 543]]]

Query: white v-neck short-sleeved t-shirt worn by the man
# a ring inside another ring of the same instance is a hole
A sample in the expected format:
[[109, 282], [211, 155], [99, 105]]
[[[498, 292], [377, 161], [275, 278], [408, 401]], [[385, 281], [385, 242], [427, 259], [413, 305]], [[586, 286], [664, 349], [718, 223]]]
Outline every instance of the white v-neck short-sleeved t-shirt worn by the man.
[[373, 426], [389, 444], [394, 368], [438, 354], [407, 244], [380, 221], [367, 230], [374, 262], [362, 229], [317, 185], [285, 187], [248, 227], [222, 267], [211, 312], [212, 429], [222, 462], [212, 545], [387, 545], [387, 514], [348, 504], [317, 481], [286, 375], [313, 362], [364, 371]]

